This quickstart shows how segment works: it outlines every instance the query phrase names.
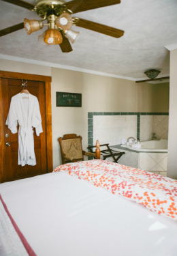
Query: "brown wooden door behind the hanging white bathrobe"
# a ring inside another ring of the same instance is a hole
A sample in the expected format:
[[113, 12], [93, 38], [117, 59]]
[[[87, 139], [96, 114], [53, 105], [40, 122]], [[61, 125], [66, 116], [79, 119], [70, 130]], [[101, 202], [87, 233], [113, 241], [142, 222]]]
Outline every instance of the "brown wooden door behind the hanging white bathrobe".
[[[5, 125], [11, 98], [22, 90], [22, 81], [19, 79], [1, 79], [6, 181], [18, 180], [47, 172], [45, 83], [28, 81], [27, 84], [29, 93], [36, 96], [39, 100], [42, 115], [43, 132], [39, 136], [36, 136], [35, 128], [33, 128], [37, 165], [25, 165], [24, 167], [18, 165], [18, 132], [12, 134]], [[10, 143], [10, 146], [7, 146], [6, 143]]]

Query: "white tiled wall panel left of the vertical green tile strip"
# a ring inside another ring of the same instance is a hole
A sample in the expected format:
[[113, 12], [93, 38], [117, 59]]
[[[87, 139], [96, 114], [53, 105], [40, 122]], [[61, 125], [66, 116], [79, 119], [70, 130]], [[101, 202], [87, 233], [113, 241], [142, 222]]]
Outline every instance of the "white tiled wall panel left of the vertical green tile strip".
[[137, 137], [137, 115], [93, 116], [93, 141], [118, 145], [128, 137]]

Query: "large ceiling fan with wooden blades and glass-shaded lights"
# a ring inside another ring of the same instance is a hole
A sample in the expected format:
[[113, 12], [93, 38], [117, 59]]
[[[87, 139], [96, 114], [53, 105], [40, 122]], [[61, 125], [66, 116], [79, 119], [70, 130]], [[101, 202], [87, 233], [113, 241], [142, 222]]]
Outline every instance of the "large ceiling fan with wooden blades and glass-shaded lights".
[[[31, 33], [42, 29], [44, 26], [47, 26], [48, 29], [44, 31], [42, 35], [39, 35], [39, 42], [44, 46], [48, 46], [49, 44], [59, 44], [63, 53], [73, 51], [69, 40], [74, 43], [79, 35], [79, 32], [71, 29], [72, 25], [110, 35], [114, 38], [120, 38], [124, 34], [124, 31], [120, 29], [94, 23], [93, 21], [84, 20], [83, 18], [71, 17], [71, 14], [76, 14], [77, 12], [84, 12], [118, 4], [120, 3], [120, 0], [72, 0], [69, 2], [66, 2], [65, 0], [37, 0], [36, 5], [22, 0], [1, 1], [27, 8], [28, 10], [36, 12], [42, 19], [28, 20], [25, 18], [24, 23], [0, 30], [0, 36], [18, 31], [24, 27], [30, 35]], [[43, 23], [44, 20], [47, 20], [47, 23]]]

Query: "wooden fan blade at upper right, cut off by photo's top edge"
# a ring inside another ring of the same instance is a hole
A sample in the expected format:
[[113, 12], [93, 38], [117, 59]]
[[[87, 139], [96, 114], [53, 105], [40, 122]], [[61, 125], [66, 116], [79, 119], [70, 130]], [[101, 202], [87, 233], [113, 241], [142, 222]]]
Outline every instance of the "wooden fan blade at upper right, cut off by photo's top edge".
[[71, 10], [74, 14], [77, 12], [84, 12], [110, 5], [116, 5], [120, 0], [73, 0], [65, 3], [67, 9]]

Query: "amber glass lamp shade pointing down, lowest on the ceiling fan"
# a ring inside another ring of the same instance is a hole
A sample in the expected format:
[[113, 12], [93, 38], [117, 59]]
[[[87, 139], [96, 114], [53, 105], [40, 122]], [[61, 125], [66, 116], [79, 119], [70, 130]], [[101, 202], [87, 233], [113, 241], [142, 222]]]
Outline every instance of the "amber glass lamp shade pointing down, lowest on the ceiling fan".
[[48, 29], [44, 35], [44, 42], [46, 44], [61, 44], [63, 38], [58, 29]]

